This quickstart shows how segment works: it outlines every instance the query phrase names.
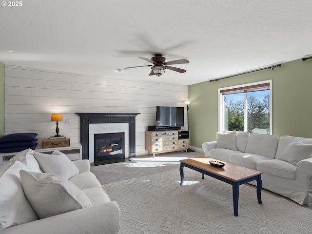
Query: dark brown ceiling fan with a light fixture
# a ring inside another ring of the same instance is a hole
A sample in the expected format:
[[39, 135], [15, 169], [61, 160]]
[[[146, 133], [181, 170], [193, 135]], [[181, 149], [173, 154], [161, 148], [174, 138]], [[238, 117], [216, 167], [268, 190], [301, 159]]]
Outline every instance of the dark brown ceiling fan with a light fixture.
[[[166, 58], [163, 57], [162, 54], [155, 54], [155, 57], [153, 57], [152, 59], [147, 59], [147, 58], [139, 58], [139, 59], [146, 60], [148, 62], [153, 63], [154, 65], [145, 65], [145, 66], [136, 66], [136, 67], [151, 67], [152, 71], [150, 73], [150, 76], [156, 75], [157, 77], [160, 77], [161, 75], [163, 75], [165, 73], [165, 69], [173, 70], [179, 73], [184, 73], [186, 72], [186, 70], [177, 68], [177, 67], [168, 66], [168, 65], [190, 63], [190, 61], [187, 59], [178, 59], [178, 60], [166, 62]], [[124, 69], [128, 69], [128, 68], [135, 68], [135, 67], [125, 67]]]

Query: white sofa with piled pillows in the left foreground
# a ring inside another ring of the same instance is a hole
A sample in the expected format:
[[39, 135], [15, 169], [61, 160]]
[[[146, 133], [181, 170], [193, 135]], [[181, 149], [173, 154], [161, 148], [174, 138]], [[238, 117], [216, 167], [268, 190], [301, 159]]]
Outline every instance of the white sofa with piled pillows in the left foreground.
[[0, 166], [0, 234], [117, 234], [120, 219], [89, 160], [29, 149]]

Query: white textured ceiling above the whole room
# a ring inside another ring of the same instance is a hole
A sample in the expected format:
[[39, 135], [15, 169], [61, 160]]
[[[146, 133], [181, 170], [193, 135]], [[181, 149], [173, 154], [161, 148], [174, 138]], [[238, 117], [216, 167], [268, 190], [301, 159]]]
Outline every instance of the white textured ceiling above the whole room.
[[[4, 0], [8, 3], [7, 0]], [[6, 65], [190, 85], [312, 54], [312, 0], [23, 0], [0, 7]], [[162, 53], [187, 72], [149, 76]]]

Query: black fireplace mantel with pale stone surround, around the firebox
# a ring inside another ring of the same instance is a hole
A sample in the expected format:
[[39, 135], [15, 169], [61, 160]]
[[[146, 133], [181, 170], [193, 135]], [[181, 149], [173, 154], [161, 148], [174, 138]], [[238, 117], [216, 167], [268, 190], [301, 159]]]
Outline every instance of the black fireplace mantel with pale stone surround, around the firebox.
[[[136, 116], [140, 113], [76, 113], [80, 117], [82, 159], [94, 162], [95, 135], [124, 133], [124, 158], [136, 156]], [[119, 155], [118, 155], [119, 156]], [[104, 158], [104, 156], [101, 156]], [[105, 158], [109, 159], [109, 158]], [[105, 160], [104, 159], [104, 160]], [[103, 159], [102, 159], [103, 160]]]

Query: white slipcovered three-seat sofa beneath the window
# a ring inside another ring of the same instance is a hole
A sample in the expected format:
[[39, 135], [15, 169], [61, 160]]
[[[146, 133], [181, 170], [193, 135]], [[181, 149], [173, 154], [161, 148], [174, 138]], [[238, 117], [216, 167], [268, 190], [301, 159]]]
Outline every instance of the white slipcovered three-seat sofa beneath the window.
[[264, 189], [312, 206], [312, 138], [232, 131], [202, 148], [206, 157], [262, 172]]

